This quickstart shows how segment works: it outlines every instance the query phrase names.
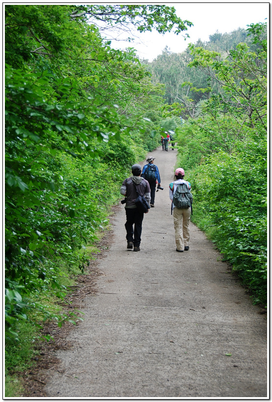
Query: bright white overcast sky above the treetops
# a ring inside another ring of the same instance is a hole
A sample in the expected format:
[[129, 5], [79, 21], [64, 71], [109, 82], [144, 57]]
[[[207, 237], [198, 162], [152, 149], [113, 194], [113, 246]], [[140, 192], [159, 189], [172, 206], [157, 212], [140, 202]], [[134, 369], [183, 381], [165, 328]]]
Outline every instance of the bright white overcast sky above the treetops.
[[[135, 4], [135, 3], [134, 3]], [[145, 3], [149, 4], [149, 3]], [[139, 40], [133, 43], [112, 41], [115, 49], [133, 47], [138, 57], [152, 61], [168, 46], [174, 53], [184, 51], [188, 44], [198, 39], [208, 41], [209, 35], [218, 29], [221, 33], [229, 33], [235, 29], [247, 28], [247, 25], [258, 22], [269, 22], [269, 2], [188, 2], [188, 3], [156, 3], [173, 6], [182, 20], [191, 21], [194, 26], [185, 31], [190, 38], [184, 41], [182, 32], [159, 34], [157, 31], [137, 33]], [[267, 20], [265, 20], [267, 18]], [[138, 43], [136, 43], [138, 42]], [[141, 43], [139, 43], [141, 42]]]

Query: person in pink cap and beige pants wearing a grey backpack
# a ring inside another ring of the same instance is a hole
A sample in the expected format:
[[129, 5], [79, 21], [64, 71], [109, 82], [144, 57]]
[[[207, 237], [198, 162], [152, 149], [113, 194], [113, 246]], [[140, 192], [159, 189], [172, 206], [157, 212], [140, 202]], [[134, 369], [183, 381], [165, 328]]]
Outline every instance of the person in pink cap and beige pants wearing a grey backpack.
[[[191, 184], [183, 180], [185, 173], [182, 168], [175, 172], [176, 180], [169, 184], [169, 197], [172, 201], [176, 251], [183, 252], [189, 250], [189, 221], [191, 216], [191, 206], [193, 196], [191, 194]], [[172, 210], [171, 209], [171, 210]]]

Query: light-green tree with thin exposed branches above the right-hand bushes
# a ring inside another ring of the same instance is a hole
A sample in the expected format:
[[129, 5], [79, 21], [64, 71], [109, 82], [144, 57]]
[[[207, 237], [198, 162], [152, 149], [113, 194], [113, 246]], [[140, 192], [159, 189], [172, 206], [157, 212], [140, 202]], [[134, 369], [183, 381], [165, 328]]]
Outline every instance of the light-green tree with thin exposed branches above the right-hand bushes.
[[[258, 26], [259, 29], [259, 26]], [[257, 29], [257, 32], [258, 32]], [[264, 29], [264, 27], [263, 27]], [[253, 28], [250, 28], [252, 33]], [[254, 38], [256, 39], [256, 38]], [[254, 40], [253, 40], [254, 42]], [[222, 92], [209, 99], [209, 113], [229, 113], [239, 117], [241, 126], [258, 126], [266, 130], [267, 112], [267, 51], [265, 40], [262, 51], [251, 51], [245, 43], [230, 50], [225, 60], [220, 54], [191, 45], [194, 60], [191, 67], [199, 67], [212, 79], [220, 83]], [[238, 110], [237, 110], [238, 109]], [[239, 113], [240, 112], [240, 113]]]

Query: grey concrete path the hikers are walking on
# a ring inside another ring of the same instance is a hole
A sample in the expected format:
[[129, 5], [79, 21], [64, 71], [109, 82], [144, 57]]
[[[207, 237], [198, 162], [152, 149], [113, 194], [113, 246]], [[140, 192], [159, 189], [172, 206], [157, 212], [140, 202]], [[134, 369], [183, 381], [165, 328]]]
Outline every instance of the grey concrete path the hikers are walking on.
[[168, 186], [177, 151], [150, 155], [164, 190], [144, 216], [141, 251], [126, 249], [120, 205], [97, 297], [86, 296], [72, 348], [57, 352], [47, 396], [267, 398], [265, 316], [192, 223], [190, 250], [176, 252]]

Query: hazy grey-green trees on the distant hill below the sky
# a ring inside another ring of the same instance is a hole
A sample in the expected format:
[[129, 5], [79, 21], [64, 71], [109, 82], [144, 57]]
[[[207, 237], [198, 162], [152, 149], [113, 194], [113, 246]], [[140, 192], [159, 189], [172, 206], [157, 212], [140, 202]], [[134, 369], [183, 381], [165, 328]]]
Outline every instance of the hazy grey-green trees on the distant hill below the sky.
[[[209, 42], [200, 39], [193, 45], [210, 52], [215, 52], [221, 60], [229, 57], [230, 50], [235, 50], [239, 43], [246, 43], [250, 50], [256, 51], [257, 45], [252, 42], [252, 32], [246, 29], [237, 29], [229, 34], [215, 32], [210, 35]], [[192, 69], [190, 66], [195, 58], [195, 53], [190, 46], [182, 53], [173, 53], [166, 47], [153, 62], [145, 64], [152, 74], [154, 83], [164, 84], [165, 101], [168, 104], [178, 102], [181, 104], [183, 119], [195, 117], [199, 113], [199, 102], [210, 97], [211, 93], [219, 92], [220, 83], [211, 79], [204, 69]]]

